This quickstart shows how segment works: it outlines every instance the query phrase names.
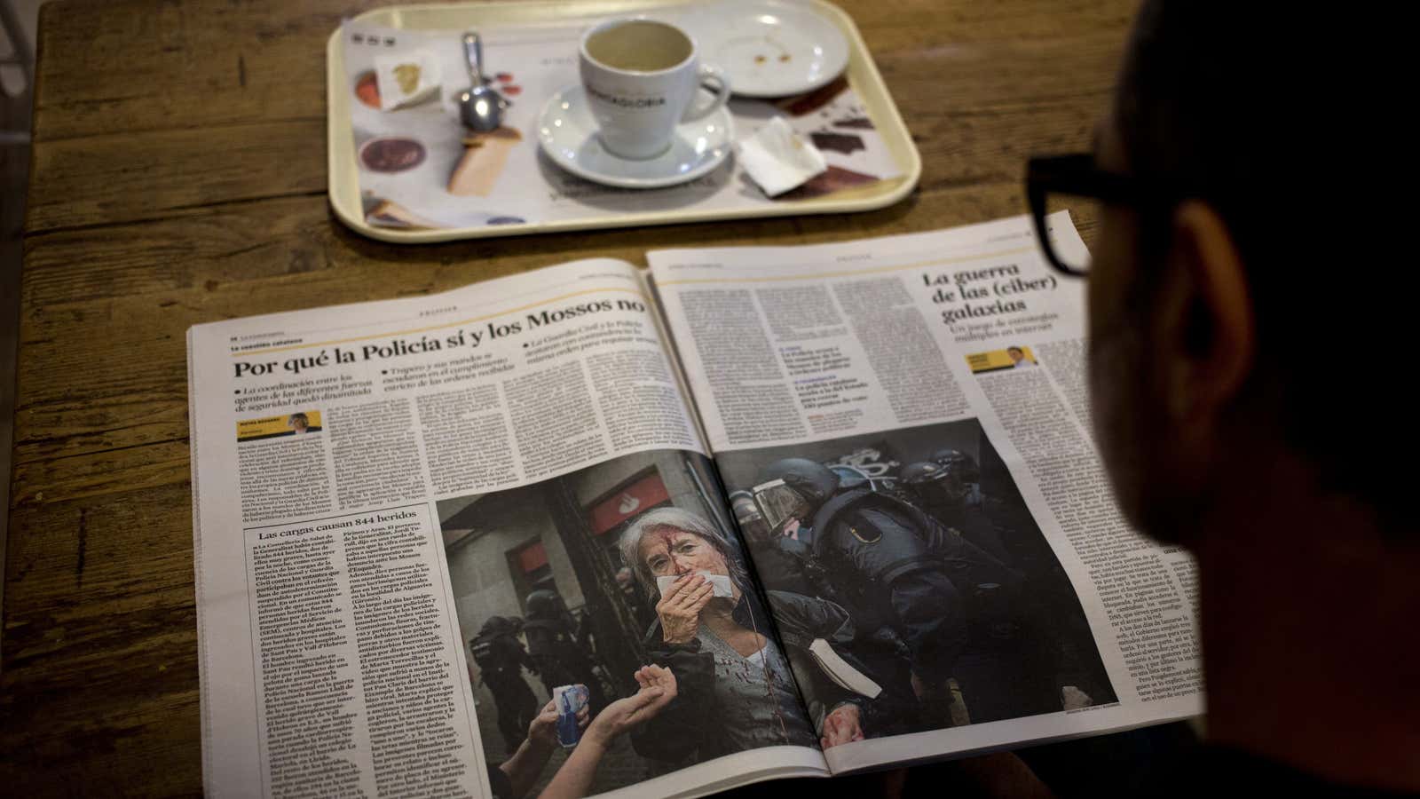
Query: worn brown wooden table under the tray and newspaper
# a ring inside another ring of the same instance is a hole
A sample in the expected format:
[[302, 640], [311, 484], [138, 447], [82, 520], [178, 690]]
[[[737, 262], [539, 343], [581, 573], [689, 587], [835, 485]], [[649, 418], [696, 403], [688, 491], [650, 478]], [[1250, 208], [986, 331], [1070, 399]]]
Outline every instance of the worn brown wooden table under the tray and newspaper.
[[426, 294], [577, 257], [790, 245], [1022, 213], [1088, 146], [1132, 0], [838, 0], [922, 151], [919, 191], [816, 216], [393, 246], [325, 199], [341, 0], [51, 3], [40, 21], [0, 790], [202, 789], [187, 372], [200, 321]]

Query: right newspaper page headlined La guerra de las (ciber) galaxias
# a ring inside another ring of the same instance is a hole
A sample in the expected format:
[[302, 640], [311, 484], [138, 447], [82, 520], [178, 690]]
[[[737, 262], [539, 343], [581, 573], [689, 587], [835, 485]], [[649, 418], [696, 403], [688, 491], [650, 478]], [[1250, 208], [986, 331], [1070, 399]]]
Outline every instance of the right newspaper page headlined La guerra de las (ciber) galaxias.
[[1028, 218], [648, 257], [764, 587], [842, 606], [880, 688], [835, 773], [1201, 712], [1194, 564], [1112, 500]]

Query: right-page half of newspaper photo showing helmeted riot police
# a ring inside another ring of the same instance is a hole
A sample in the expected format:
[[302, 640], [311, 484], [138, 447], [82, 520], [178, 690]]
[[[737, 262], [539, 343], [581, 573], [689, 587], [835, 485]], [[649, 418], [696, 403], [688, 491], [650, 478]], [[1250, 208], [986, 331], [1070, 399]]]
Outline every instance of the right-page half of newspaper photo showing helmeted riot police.
[[[835, 601], [866, 738], [1116, 702], [1079, 600], [976, 419], [717, 458], [767, 589]], [[984, 465], [984, 468], [983, 468]]]

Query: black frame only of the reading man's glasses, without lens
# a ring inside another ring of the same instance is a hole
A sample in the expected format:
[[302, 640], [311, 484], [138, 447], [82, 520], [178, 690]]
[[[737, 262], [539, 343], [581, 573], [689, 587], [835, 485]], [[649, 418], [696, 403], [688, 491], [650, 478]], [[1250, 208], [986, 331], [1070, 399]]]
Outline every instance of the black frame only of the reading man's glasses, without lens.
[[1045, 260], [1071, 277], [1085, 277], [1088, 269], [1071, 266], [1059, 253], [1045, 229], [1045, 203], [1049, 195], [1074, 195], [1106, 203], [1133, 206], [1167, 206], [1173, 200], [1145, 191], [1139, 181], [1106, 172], [1095, 165], [1095, 155], [1079, 152], [1031, 158], [1025, 163], [1025, 198], [1035, 222], [1035, 237], [1041, 242]]

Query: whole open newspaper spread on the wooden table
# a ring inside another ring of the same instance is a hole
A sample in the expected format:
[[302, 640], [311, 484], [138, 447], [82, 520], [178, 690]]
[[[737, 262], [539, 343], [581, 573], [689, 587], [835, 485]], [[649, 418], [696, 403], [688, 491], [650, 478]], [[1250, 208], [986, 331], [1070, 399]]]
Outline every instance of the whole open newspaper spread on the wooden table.
[[189, 331], [207, 792], [697, 796], [1201, 711], [1028, 219], [648, 260]]

